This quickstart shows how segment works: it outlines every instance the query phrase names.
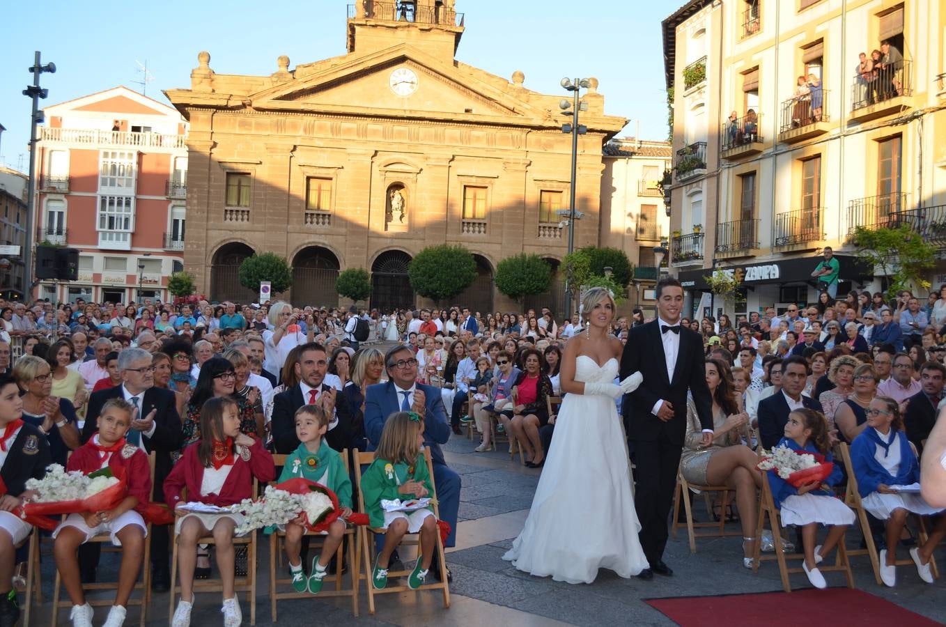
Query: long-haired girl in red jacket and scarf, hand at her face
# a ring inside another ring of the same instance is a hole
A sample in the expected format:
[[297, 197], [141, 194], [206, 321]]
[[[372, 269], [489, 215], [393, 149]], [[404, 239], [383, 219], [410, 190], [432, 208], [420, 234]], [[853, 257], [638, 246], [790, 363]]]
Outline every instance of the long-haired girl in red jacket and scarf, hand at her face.
[[239, 625], [242, 614], [234, 592], [233, 537], [236, 526], [243, 522], [243, 516], [229, 512], [188, 513], [181, 509], [185, 504], [183, 493], [186, 489], [187, 499], [191, 502], [219, 507], [235, 505], [253, 496], [254, 477], [261, 483], [272, 481], [276, 468], [272, 455], [261, 440], [240, 433], [238, 406], [230, 396], [214, 397], [203, 404], [201, 434], [203, 439], [184, 449], [181, 460], [165, 479], [165, 501], [179, 516], [175, 531], [178, 534], [181, 601], [174, 612], [173, 624], [182, 627], [190, 624], [197, 541], [212, 534], [223, 583], [223, 623]]

